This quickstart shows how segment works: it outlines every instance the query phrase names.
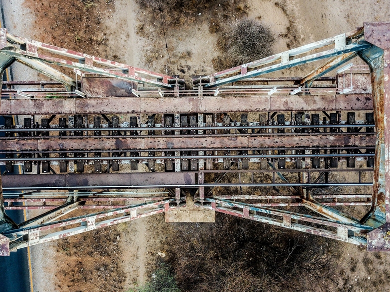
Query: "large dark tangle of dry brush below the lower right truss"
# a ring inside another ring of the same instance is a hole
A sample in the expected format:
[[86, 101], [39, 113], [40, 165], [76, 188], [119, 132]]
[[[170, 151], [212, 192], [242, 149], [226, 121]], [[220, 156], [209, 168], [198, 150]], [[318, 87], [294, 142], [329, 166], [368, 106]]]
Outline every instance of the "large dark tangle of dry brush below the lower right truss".
[[168, 253], [182, 292], [334, 291], [325, 238], [221, 214], [176, 232]]

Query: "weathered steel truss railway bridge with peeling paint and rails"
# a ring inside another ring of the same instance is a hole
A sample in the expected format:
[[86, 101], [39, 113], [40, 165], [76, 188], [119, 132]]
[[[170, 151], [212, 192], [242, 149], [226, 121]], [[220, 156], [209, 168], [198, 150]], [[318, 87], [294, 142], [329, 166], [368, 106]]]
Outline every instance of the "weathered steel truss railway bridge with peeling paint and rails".
[[[190, 89], [0, 29], [1, 73], [13, 62], [50, 80], [2, 82], [0, 255], [182, 211], [390, 250], [390, 23], [198, 76]], [[303, 77], [274, 73], [312, 62]], [[23, 209], [40, 214], [6, 215]]]

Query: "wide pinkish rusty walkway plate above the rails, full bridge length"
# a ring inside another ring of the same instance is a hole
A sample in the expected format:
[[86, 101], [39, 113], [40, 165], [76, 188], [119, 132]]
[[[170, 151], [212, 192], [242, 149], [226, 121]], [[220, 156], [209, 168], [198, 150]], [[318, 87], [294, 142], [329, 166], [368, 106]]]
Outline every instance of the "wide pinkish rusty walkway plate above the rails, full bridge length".
[[1, 99], [0, 115], [372, 110], [371, 94]]

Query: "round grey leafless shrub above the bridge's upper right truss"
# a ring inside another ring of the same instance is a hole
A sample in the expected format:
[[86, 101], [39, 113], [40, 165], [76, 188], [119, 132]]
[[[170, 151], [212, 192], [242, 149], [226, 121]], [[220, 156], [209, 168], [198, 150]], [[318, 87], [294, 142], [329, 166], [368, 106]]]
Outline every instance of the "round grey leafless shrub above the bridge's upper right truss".
[[222, 71], [272, 55], [275, 37], [271, 29], [253, 19], [237, 23], [230, 33], [220, 36], [217, 47], [222, 54], [212, 60], [214, 69]]

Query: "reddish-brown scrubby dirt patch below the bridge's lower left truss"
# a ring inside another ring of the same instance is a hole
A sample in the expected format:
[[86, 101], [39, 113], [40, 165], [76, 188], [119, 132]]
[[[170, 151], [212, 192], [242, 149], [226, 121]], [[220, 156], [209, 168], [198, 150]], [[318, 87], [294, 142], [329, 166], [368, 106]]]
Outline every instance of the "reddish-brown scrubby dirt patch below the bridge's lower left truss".
[[118, 292], [126, 280], [116, 228], [103, 228], [58, 241], [62, 258], [57, 290], [65, 292]]

